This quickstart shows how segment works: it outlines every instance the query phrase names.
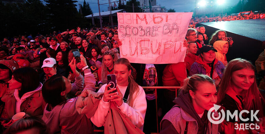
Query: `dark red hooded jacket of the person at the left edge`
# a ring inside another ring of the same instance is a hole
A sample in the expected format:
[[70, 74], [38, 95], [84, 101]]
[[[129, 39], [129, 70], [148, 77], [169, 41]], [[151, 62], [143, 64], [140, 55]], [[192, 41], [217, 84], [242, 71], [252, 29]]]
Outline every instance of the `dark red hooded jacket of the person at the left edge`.
[[[17, 62], [13, 60], [1, 60], [0, 64], [7, 66], [12, 71], [12, 73], [19, 68]], [[0, 82], [0, 98], [6, 94], [7, 85], [7, 82]]]

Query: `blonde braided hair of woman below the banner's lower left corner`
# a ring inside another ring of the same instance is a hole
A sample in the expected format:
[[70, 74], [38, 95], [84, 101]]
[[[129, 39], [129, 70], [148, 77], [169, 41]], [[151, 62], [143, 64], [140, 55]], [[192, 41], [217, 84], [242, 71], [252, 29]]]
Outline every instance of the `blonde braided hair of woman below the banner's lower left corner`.
[[118, 50], [116, 48], [109, 50], [108, 47], [104, 47], [101, 52], [103, 53], [103, 60], [102, 60], [102, 66], [101, 66], [101, 81], [102, 84], [106, 84], [107, 83], [107, 67], [105, 66], [104, 63], [104, 56], [105, 55], [110, 55], [112, 57], [113, 63], [115, 61], [117, 61], [120, 56], [118, 53]]

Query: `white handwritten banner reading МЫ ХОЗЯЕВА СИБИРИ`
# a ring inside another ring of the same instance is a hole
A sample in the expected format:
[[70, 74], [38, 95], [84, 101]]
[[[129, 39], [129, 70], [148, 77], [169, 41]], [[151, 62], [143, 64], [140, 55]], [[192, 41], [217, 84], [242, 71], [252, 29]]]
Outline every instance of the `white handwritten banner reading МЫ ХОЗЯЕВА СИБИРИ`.
[[192, 13], [117, 13], [120, 56], [131, 63], [183, 62]]

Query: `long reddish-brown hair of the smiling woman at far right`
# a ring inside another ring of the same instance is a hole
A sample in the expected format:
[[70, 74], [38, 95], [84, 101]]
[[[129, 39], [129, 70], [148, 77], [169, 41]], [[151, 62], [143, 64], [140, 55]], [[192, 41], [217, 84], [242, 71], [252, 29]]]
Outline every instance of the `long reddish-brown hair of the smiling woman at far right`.
[[[229, 86], [232, 84], [232, 73], [237, 70], [246, 69], [249, 68], [255, 72], [255, 67], [247, 60], [245, 59], [233, 59], [227, 64], [227, 67], [225, 68], [224, 75], [222, 77], [222, 80], [219, 84], [219, 90], [217, 94], [218, 101], [217, 103], [220, 104], [220, 102], [225, 98], [225, 94], [227, 90], [229, 90]], [[254, 77], [254, 82], [251, 85], [251, 87], [248, 90], [243, 90], [243, 99], [244, 106], [242, 107], [243, 110], [260, 110], [259, 111], [259, 117], [263, 116], [263, 105], [262, 101], [264, 101], [264, 98], [259, 92], [259, 89], [257, 87], [256, 83], [256, 76]], [[260, 99], [261, 98], [261, 99]]]

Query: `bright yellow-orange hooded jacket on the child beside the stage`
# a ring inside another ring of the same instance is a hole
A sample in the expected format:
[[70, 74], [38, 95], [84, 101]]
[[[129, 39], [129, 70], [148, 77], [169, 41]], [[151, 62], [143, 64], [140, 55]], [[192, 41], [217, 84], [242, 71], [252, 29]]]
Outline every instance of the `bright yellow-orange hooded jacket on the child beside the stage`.
[[218, 61], [221, 61], [223, 64], [225, 64], [226, 63], [225, 61], [227, 61], [226, 55], [223, 53], [223, 47], [226, 43], [228, 42], [224, 40], [217, 40], [213, 43], [214, 49], [217, 50], [217, 52], [215, 52], [215, 58]]

